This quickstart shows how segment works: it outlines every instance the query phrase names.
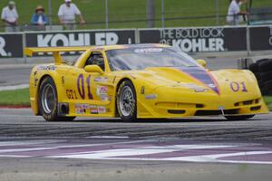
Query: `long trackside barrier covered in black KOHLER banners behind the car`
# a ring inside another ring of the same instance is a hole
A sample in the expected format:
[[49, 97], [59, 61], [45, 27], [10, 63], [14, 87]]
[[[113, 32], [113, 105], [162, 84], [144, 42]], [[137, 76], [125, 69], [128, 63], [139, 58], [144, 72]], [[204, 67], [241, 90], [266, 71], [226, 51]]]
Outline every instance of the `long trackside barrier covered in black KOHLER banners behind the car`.
[[272, 50], [272, 25], [0, 33], [0, 58], [24, 57], [24, 47], [128, 43], [167, 43], [183, 52], [265, 51]]

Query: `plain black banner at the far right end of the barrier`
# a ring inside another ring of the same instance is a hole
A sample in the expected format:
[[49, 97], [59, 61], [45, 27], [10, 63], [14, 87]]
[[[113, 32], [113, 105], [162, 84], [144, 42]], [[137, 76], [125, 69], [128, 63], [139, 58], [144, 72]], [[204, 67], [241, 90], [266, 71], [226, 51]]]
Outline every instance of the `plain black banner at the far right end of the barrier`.
[[251, 51], [272, 50], [272, 26], [250, 27]]

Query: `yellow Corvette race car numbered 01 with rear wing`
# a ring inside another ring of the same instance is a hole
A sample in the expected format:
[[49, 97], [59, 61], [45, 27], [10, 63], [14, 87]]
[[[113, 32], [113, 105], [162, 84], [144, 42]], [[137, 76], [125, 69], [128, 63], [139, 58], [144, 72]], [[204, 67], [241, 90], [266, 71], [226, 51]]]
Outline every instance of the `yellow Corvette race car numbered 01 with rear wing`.
[[[46, 120], [75, 117], [167, 119], [224, 116], [250, 119], [267, 113], [251, 71], [205, 69], [204, 61], [162, 44], [26, 48], [53, 53], [34, 67], [30, 100]], [[63, 61], [62, 52], [83, 52]]]

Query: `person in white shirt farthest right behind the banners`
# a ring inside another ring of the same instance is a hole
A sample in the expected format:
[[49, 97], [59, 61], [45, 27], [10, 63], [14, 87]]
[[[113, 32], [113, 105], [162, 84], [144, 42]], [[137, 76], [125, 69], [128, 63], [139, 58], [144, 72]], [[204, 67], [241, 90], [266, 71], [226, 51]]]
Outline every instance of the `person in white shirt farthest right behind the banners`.
[[240, 6], [246, 4], [247, 0], [232, 0], [228, 6], [227, 22], [231, 25], [238, 25], [240, 22], [240, 15], [247, 14], [240, 11]]

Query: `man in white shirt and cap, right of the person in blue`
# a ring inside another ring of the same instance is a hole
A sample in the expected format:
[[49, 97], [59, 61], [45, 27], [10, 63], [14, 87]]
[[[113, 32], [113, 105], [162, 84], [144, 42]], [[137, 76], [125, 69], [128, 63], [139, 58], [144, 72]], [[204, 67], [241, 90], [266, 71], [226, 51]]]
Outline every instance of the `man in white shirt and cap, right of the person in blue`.
[[74, 30], [76, 28], [76, 15], [79, 15], [80, 23], [85, 24], [81, 11], [72, 3], [72, 0], [64, 0], [64, 2], [58, 12], [60, 24], [64, 25], [64, 29]]

